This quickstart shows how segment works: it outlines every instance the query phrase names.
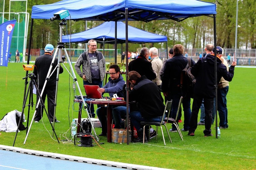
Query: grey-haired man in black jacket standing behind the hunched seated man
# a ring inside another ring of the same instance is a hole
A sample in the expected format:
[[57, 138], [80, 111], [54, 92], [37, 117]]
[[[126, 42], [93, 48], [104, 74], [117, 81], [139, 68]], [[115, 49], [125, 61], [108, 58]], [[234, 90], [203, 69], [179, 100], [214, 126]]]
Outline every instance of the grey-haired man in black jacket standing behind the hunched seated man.
[[154, 80], [156, 74], [152, 68], [152, 64], [148, 61], [149, 50], [146, 47], [143, 47], [140, 51], [140, 55], [129, 63], [128, 70], [136, 71], [141, 76], [145, 75], [148, 80]]

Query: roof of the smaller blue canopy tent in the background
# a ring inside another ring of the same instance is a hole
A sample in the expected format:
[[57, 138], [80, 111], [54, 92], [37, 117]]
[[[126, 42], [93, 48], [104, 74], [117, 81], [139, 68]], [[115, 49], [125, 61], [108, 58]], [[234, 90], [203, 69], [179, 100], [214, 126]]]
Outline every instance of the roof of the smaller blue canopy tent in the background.
[[[87, 42], [91, 39], [103, 41], [105, 43], [114, 44], [115, 40], [115, 22], [104, 22], [103, 24], [91, 28], [90, 30], [72, 34], [70, 42]], [[70, 35], [62, 36], [62, 42], [69, 42]], [[134, 28], [128, 25], [128, 42], [132, 43], [147, 43], [147, 42], [166, 42], [167, 37], [153, 34]], [[117, 22], [117, 43], [125, 43], [125, 24]]]

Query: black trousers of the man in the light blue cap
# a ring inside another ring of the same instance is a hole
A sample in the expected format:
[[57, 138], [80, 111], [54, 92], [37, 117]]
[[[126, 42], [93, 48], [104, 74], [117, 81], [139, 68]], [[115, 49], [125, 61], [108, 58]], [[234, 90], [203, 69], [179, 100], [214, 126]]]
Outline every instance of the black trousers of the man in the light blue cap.
[[[39, 93], [41, 94], [42, 92], [42, 89], [38, 89]], [[49, 118], [50, 118], [50, 121], [53, 122], [53, 116], [54, 116], [54, 102], [55, 102], [55, 92], [56, 92], [56, 88], [47, 88], [45, 87], [44, 89], [44, 93], [42, 95], [42, 100], [44, 102], [44, 105], [45, 104], [45, 98], [46, 98], [46, 95], [47, 95], [47, 108], [48, 108], [48, 115], [49, 115]], [[37, 94], [36, 95], [36, 103], [38, 103], [38, 100], [39, 100], [39, 95]], [[39, 107], [38, 107], [38, 111], [35, 115], [35, 121], [39, 121], [42, 119], [43, 117], [43, 111], [44, 111], [44, 108], [41, 107], [41, 104], [39, 104]], [[55, 121], [56, 121], [56, 118], [55, 118]]]

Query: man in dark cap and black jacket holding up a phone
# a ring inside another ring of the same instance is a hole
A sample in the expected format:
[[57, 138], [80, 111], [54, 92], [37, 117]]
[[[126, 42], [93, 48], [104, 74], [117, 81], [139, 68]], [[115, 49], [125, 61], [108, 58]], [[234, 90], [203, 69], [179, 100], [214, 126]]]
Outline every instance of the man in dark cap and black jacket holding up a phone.
[[[192, 67], [191, 73], [197, 79], [194, 87], [194, 100], [192, 105], [192, 113], [189, 122], [189, 136], [194, 136], [194, 132], [197, 129], [197, 116], [204, 99], [205, 107], [205, 130], [204, 136], [212, 136], [212, 108], [213, 100], [215, 97], [215, 71], [214, 71], [214, 52], [213, 54], [206, 55], [206, 57], [200, 58], [198, 62]], [[216, 54], [222, 54], [221, 47], [216, 47]], [[227, 67], [221, 63], [220, 58], [217, 57], [217, 82], [220, 82], [221, 77], [227, 81], [231, 81], [234, 76], [234, 69], [236, 62], [233, 62], [227, 71]]]

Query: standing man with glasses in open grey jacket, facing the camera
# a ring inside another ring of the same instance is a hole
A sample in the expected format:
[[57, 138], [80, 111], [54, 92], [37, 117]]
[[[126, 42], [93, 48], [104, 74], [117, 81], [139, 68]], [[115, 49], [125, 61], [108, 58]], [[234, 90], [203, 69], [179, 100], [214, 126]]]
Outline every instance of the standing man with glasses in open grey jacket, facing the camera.
[[[75, 70], [83, 79], [84, 85], [98, 85], [102, 87], [102, 81], [105, 78], [105, 58], [97, 49], [97, 42], [95, 40], [88, 41], [88, 50], [82, 53], [76, 63]], [[82, 65], [82, 71], [81, 71]], [[94, 118], [94, 106], [90, 105], [90, 117]]]

